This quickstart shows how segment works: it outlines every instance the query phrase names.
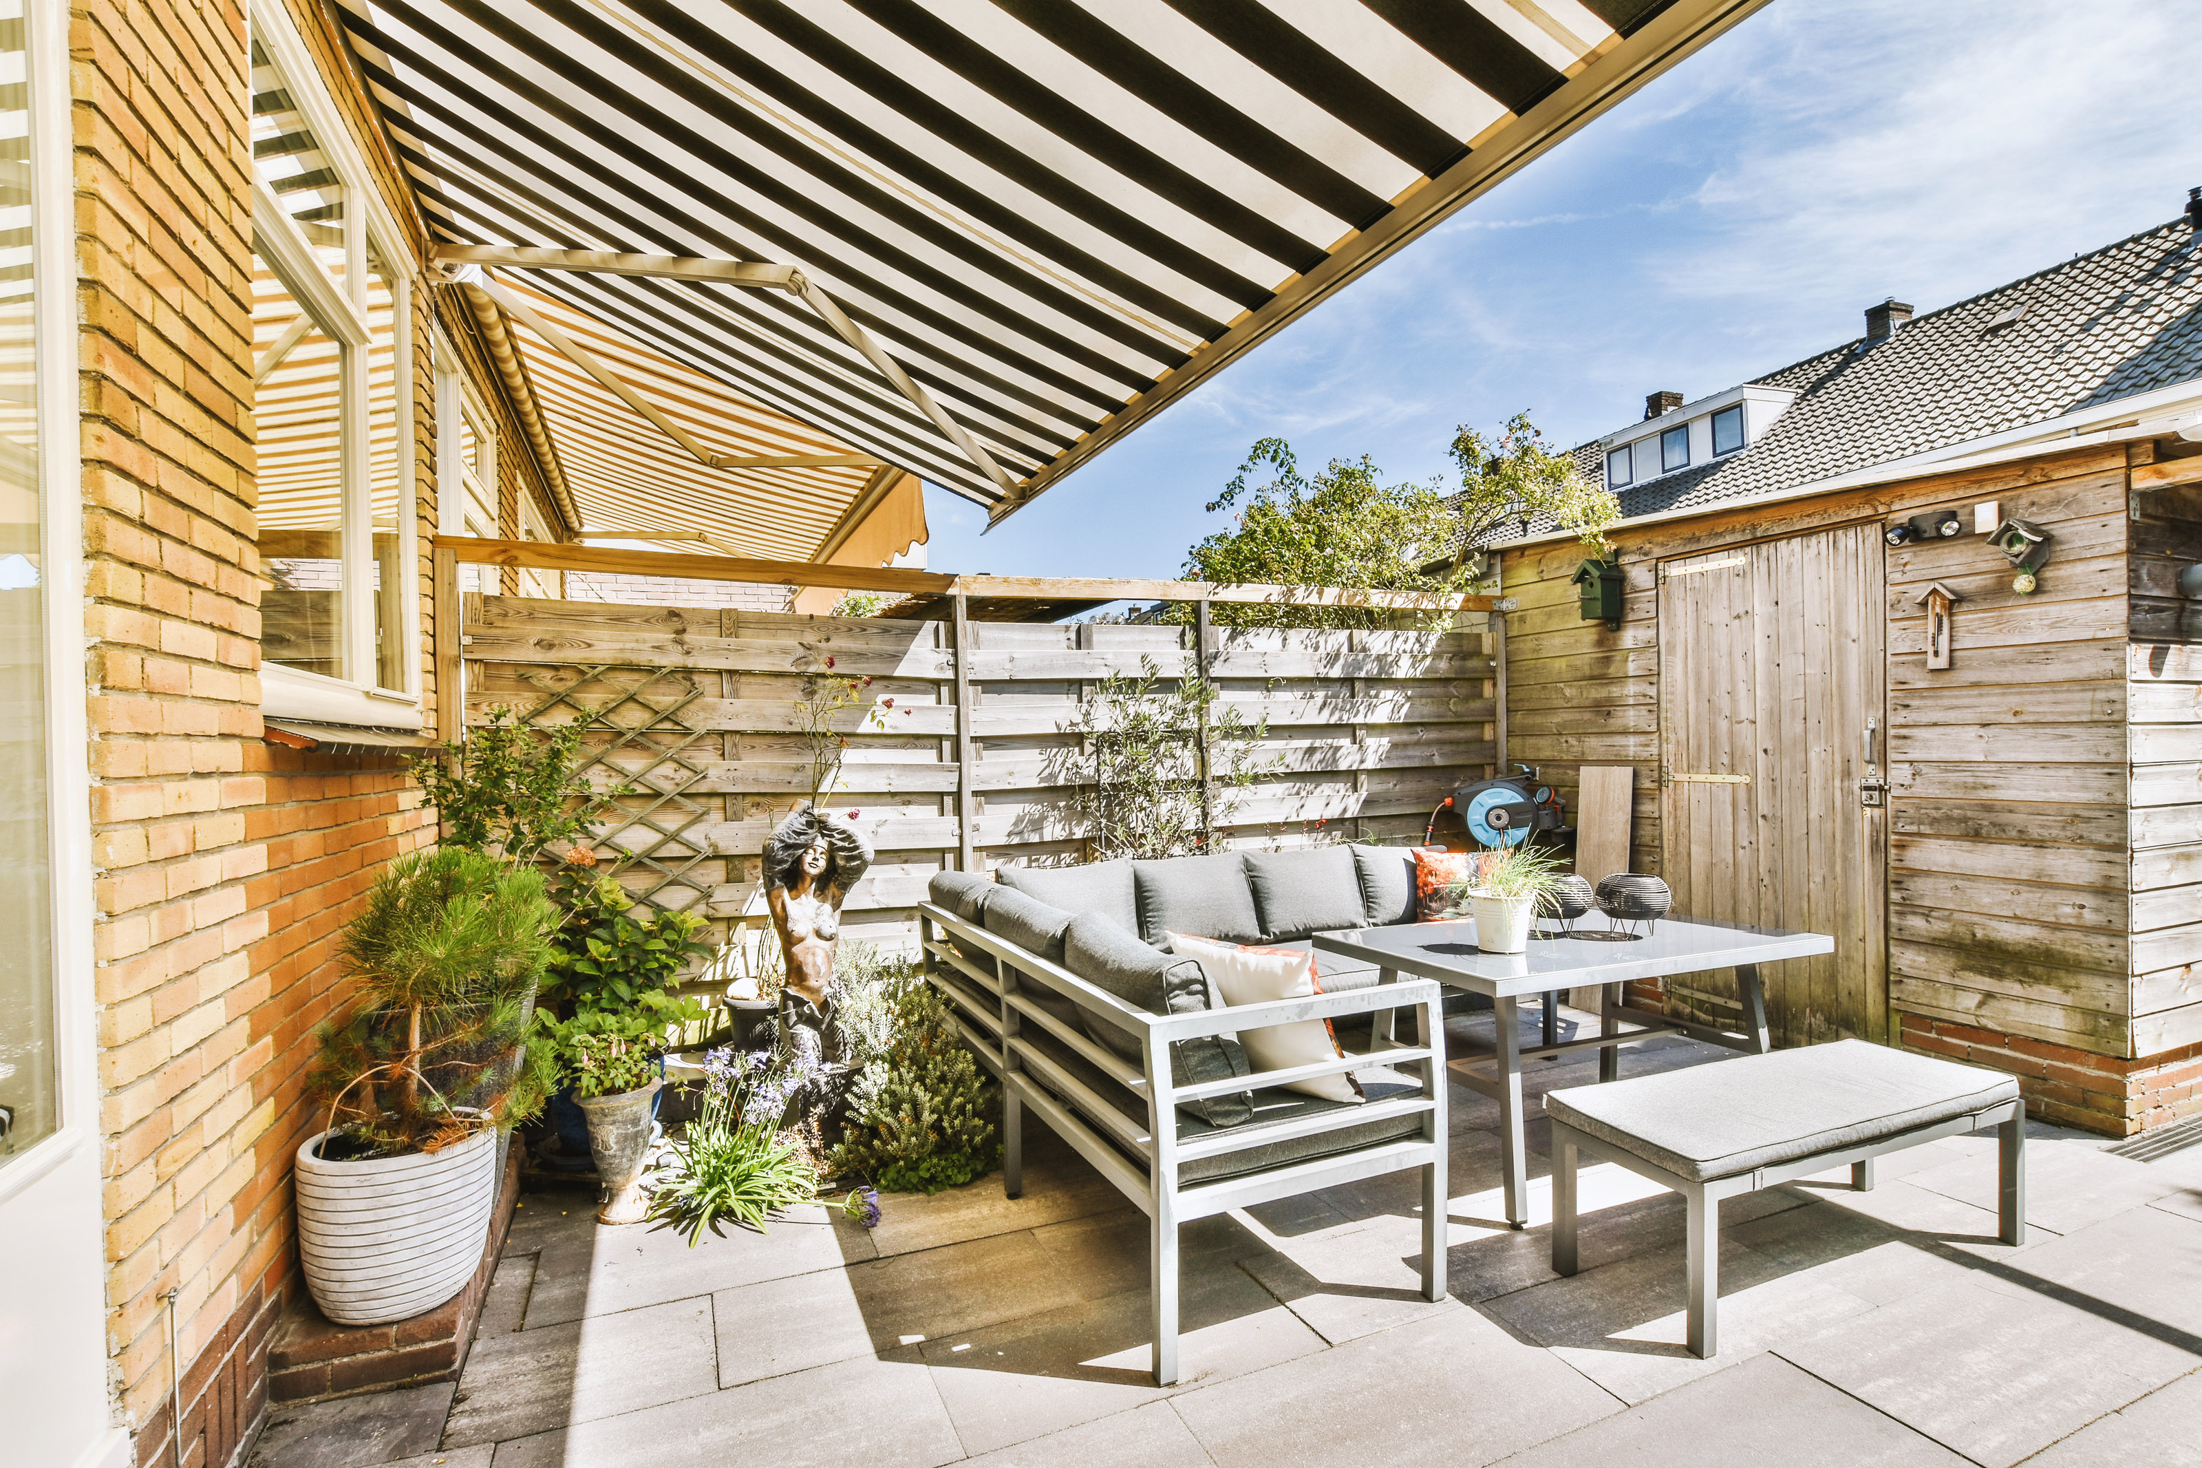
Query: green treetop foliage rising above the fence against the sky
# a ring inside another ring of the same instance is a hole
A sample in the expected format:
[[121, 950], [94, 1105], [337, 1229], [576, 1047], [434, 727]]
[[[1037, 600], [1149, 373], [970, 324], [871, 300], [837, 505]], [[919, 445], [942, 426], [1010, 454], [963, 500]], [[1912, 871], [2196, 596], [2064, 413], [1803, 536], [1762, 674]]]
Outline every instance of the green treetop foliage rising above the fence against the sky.
[[[1271, 478], [1255, 482], [1268, 467]], [[1185, 555], [1198, 581], [1343, 585], [1385, 592], [1464, 592], [1471, 574], [1451, 563], [1460, 519], [1436, 484], [1389, 482], [1367, 456], [1334, 458], [1312, 478], [1293, 445], [1264, 438], [1209, 511], [1242, 504], [1238, 524]], [[1365, 607], [1266, 607], [1218, 603], [1238, 627], [1385, 627], [1394, 612]], [[1178, 612], [1182, 618], [1182, 612]]]

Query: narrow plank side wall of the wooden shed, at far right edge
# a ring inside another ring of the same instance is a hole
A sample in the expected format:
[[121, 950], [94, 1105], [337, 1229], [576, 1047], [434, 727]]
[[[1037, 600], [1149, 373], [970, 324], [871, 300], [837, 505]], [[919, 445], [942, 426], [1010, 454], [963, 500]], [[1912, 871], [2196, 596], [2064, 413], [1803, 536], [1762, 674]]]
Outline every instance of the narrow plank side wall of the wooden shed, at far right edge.
[[2134, 1054], [2202, 1041], [2202, 456], [2134, 445], [2127, 647]]

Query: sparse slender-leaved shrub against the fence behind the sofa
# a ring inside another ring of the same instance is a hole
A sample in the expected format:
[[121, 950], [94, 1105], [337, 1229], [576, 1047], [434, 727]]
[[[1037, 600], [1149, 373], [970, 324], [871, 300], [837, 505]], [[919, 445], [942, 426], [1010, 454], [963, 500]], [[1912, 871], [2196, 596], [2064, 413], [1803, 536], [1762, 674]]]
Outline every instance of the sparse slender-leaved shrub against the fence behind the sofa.
[[[1209, 728], [1209, 781], [1202, 795], [1200, 724]], [[1255, 740], [1268, 720], [1246, 726], [1218, 704], [1216, 684], [1180, 678], [1163, 687], [1154, 658], [1138, 676], [1112, 673], [1079, 704], [1079, 748], [1059, 755], [1057, 779], [1079, 786], [1077, 812], [1090, 821], [1097, 861], [1189, 856], [1227, 825], [1255, 777]]]

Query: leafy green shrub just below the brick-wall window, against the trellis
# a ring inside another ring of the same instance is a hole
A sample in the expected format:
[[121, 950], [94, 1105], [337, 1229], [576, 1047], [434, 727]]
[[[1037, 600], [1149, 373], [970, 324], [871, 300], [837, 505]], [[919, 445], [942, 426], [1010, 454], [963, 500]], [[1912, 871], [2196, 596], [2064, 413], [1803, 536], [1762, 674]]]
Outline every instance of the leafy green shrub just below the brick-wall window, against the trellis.
[[579, 748], [579, 724], [539, 737], [511, 709], [491, 709], [465, 742], [423, 751], [405, 770], [436, 808], [445, 845], [526, 865], [590, 825], [599, 799], [575, 768]]

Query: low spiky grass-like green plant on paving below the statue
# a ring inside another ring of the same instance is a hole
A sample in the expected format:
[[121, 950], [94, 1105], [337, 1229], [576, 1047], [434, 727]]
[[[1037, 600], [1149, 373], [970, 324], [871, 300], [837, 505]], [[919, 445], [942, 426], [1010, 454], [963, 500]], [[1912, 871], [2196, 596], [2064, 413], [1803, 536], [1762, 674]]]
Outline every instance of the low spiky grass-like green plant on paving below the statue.
[[702, 1107], [652, 1169], [650, 1217], [658, 1228], [685, 1230], [689, 1248], [724, 1224], [764, 1233], [773, 1213], [817, 1197], [817, 1171], [795, 1142], [744, 1116], [749, 1089], [742, 1061], [709, 1052]]

